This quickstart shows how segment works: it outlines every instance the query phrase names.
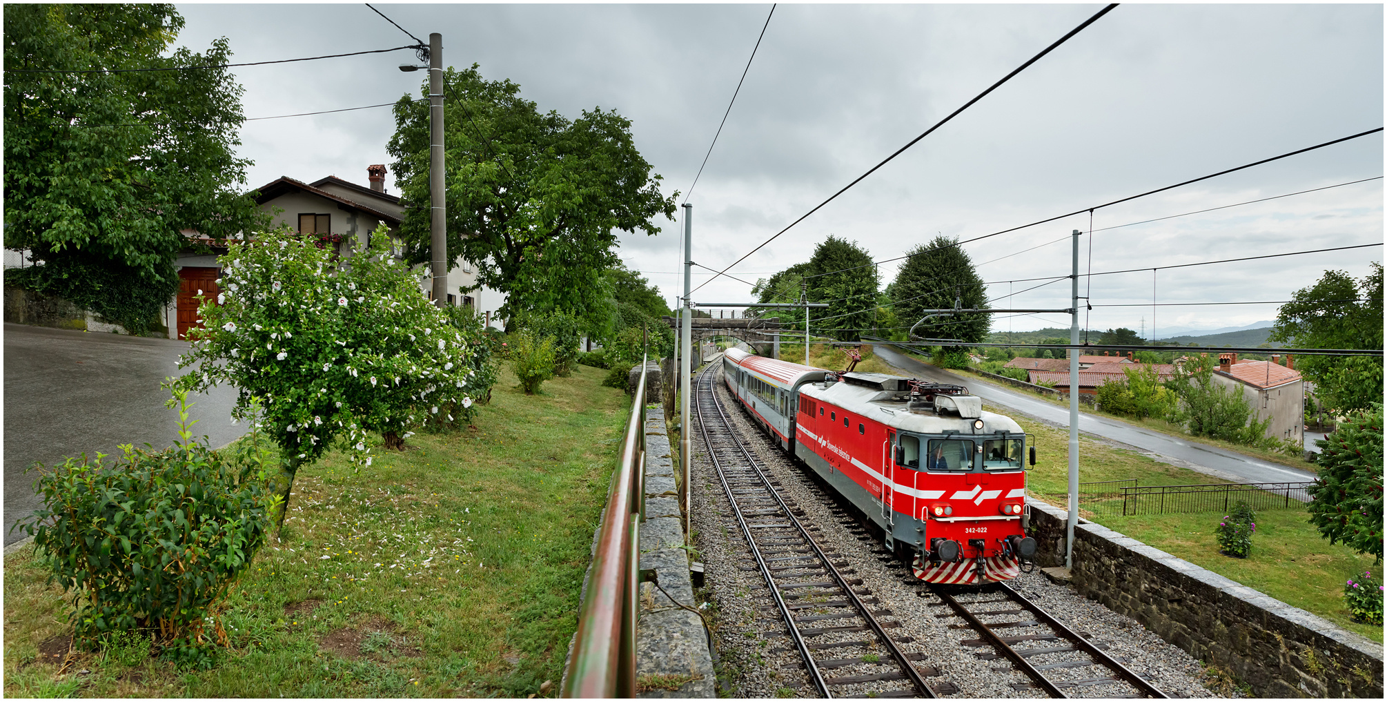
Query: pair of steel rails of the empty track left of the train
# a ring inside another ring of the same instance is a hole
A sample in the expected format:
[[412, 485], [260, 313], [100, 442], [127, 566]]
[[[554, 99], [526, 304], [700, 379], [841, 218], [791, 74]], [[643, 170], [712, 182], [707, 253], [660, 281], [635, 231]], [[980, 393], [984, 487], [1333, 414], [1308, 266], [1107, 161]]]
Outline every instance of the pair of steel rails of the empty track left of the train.
[[[731, 433], [735, 437], [736, 431], [732, 429], [731, 419], [727, 416], [727, 411], [723, 408], [723, 402], [717, 398], [716, 383], [713, 382], [714, 369], [720, 368], [721, 363], [709, 363], [709, 368], [705, 369], [703, 373], [700, 375], [699, 400], [702, 400], [702, 395], [706, 391], [709, 400], [712, 400], [713, 409], [717, 411], [718, 422], [728, 430], [728, 433]], [[742, 511], [736, 505], [736, 499], [732, 495], [731, 486], [728, 486], [727, 477], [723, 473], [721, 463], [720, 461], [717, 461], [717, 452], [714, 451], [713, 443], [707, 434], [707, 422], [705, 420], [703, 416], [703, 402], [699, 402], [698, 413], [699, 413], [699, 426], [703, 430], [705, 443], [707, 444], [709, 448], [709, 456], [713, 459], [714, 468], [717, 468], [718, 480], [723, 483], [723, 491], [727, 494], [728, 502], [732, 504], [732, 509], [736, 515], [738, 524], [741, 524], [742, 527], [742, 533], [746, 537], [746, 542], [752, 547], [752, 554], [756, 558], [756, 563], [761, 570], [761, 576], [766, 579], [767, 588], [771, 591], [771, 597], [775, 599], [775, 603], [781, 610], [781, 616], [785, 617], [785, 623], [789, 627], [791, 637], [795, 640], [795, 645], [799, 649], [800, 658], [804, 659], [804, 667], [806, 670], [810, 671], [810, 677], [813, 678], [814, 685], [818, 688], [820, 694], [822, 694], [825, 698], [831, 698], [832, 694], [828, 690], [828, 684], [824, 681], [822, 674], [818, 670], [818, 666], [814, 663], [813, 655], [810, 655], [809, 652], [807, 644], [800, 635], [799, 628], [795, 626], [793, 616], [789, 613], [785, 601], [781, 598], [779, 588], [775, 584], [775, 580], [771, 576], [770, 569], [766, 565], [766, 560], [763, 559], [760, 551], [756, 547], [756, 541], [752, 537], [752, 530], [746, 523], [746, 519], [742, 516]], [[890, 653], [890, 658], [896, 662], [896, 665], [902, 669], [902, 671], [904, 671], [911, 685], [920, 692], [921, 696], [935, 698], [936, 695], [933, 688], [931, 688], [925, 683], [924, 676], [920, 674], [914, 663], [906, 656], [906, 653], [900, 649], [900, 647], [889, 635], [886, 635], [886, 630], [882, 628], [881, 622], [878, 622], [877, 617], [872, 616], [867, 605], [863, 603], [863, 601], [857, 597], [857, 592], [853, 592], [853, 588], [847, 583], [847, 579], [845, 579], [843, 574], [838, 572], [838, 567], [832, 563], [832, 559], [829, 559], [828, 554], [824, 552], [822, 547], [818, 545], [818, 541], [816, 541], [809, 534], [809, 530], [804, 527], [804, 524], [800, 523], [800, 520], [795, 516], [793, 512], [791, 512], [789, 505], [785, 504], [779, 493], [774, 488], [774, 486], [771, 486], [770, 479], [761, 469], [760, 461], [757, 461], [756, 456], [750, 454], [745, 443], [738, 441], [736, 447], [741, 451], [742, 456], [746, 459], [748, 468], [750, 468], [750, 470], [756, 473], [761, 484], [766, 487], [767, 494], [773, 499], [775, 499], [775, 504], [785, 515], [785, 519], [795, 527], [796, 531], [799, 531], [799, 536], [800, 538], [803, 538], [804, 544], [807, 544], [810, 549], [813, 549], [814, 555], [822, 563], [822, 567], [828, 573], [829, 579], [834, 583], [838, 583], [838, 587], [843, 591], [845, 599], [850, 602], [852, 608], [857, 612], [857, 616], [864, 622], [867, 622], [867, 626], [872, 630], [877, 638], [881, 640], [882, 647], [886, 648], [886, 651]]]

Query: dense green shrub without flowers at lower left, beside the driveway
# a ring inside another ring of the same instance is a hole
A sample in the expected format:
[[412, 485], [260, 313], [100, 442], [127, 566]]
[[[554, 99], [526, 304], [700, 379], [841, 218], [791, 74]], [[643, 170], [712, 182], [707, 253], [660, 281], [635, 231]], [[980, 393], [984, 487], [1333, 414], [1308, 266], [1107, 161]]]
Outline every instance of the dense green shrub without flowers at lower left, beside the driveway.
[[252, 452], [223, 456], [191, 440], [178, 401], [182, 441], [168, 450], [40, 468], [43, 506], [21, 529], [50, 556], [86, 645], [117, 631], [184, 651], [226, 641], [216, 610], [273, 524], [258, 431]]

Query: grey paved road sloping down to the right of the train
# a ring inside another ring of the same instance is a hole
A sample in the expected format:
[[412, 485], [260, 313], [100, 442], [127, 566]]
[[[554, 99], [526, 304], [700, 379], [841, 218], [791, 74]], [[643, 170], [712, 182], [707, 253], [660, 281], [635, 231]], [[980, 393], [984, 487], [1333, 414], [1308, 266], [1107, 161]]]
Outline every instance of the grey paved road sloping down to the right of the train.
[[[990, 383], [979, 382], [976, 377], [958, 376], [947, 370], [921, 363], [914, 358], [900, 354], [893, 347], [885, 344], [875, 345], [877, 355], [882, 361], [906, 370], [915, 377], [933, 380], [938, 383], [956, 383], [968, 386], [968, 391], [983, 401], [1006, 406], [1033, 416], [1036, 419], [1069, 426], [1069, 409], [1056, 406], [1024, 391], [1004, 390]], [[1300, 480], [1313, 480], [1312, 473], [1295, 470], [1294, 468], [1258, 461], [1233, 451], [1215, 448], [1197, 441], [1176, 438], [1160, 431], [1137, 429], [1125, 422], [1103, 416], [1079, 413], [1079, 430], [1087, 434], [1111, 438], [1128, 445], [1137, 447], [1151, 454], [1160, 454], [1175, 459], [1178, 465], [1214, 474], [1226, 480], [1244, 483], [1286, 483]]]

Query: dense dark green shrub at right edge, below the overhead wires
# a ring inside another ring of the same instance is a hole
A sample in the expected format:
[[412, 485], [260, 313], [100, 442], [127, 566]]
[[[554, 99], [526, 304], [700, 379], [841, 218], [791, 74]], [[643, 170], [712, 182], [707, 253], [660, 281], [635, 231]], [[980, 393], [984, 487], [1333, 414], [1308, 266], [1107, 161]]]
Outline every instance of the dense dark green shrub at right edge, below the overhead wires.
[[1383, 558], [1383, 405], [1358, 412], [1316, 441], [1323, 450], [1309, 486], [1309, 522], [1329, 542]]

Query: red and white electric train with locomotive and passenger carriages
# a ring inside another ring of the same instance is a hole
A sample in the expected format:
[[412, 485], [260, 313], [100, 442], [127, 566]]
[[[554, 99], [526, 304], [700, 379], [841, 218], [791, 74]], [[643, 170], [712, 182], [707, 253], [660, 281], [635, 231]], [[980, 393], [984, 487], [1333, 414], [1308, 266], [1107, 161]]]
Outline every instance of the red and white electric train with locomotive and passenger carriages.
[[828, 370], [730, 348], [723, 377], [781, 450], [881, 529], [914, 577], [1015, 579], [1036, 552], [1025, 498], [1035, 437], [985, 412], [964, 386], [854, 366]]

